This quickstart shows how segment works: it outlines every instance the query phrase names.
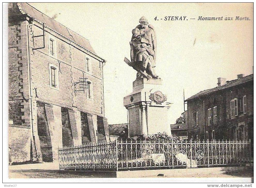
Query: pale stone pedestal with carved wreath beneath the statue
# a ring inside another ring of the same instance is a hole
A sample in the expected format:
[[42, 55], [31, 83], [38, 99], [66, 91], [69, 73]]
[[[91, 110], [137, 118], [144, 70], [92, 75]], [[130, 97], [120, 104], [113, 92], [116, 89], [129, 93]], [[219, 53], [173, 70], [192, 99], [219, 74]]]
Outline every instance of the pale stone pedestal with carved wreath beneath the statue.
[[133, 92], [123, 98], [129, 113], [129, 137], [152, 135], [170, 130], [170, 102], [167, 102], [161, 79], [136, 79]]

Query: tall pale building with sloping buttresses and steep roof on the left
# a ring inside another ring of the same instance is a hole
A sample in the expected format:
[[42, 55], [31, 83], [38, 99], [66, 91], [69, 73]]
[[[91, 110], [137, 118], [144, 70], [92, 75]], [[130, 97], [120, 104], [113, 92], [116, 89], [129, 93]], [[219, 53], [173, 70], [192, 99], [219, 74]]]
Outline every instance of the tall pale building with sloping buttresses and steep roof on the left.
[[58, 160], [58, 147], [108, 141], [104, 59], [27, 3], [9, 3], [9, 156]]

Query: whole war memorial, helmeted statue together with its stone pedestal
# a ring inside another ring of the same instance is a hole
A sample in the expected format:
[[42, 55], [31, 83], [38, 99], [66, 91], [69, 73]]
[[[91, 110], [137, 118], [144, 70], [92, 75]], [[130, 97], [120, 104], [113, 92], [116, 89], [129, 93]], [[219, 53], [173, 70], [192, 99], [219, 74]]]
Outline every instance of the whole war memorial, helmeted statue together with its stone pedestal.
[[156, 33], [142, 16], [140, 25], [132, 30], [130, 41], [131, 61], [124, 61], [137, 71], [133, 92], [123, 98], [129, 114], [129, 137], [166, 132], [171, 135], [169, 118], [170, 102], [163, 94], [162, 79], [155, 72]]

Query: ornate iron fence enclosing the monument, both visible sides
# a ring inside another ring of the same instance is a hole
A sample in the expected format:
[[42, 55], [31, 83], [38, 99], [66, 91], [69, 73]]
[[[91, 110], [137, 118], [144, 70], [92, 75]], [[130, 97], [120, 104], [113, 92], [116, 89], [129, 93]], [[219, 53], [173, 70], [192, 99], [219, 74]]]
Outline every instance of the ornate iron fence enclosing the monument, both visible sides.
[[59, 149], [60, 169], [126, 170], [240, 165], [250, 141], [132, 140]]

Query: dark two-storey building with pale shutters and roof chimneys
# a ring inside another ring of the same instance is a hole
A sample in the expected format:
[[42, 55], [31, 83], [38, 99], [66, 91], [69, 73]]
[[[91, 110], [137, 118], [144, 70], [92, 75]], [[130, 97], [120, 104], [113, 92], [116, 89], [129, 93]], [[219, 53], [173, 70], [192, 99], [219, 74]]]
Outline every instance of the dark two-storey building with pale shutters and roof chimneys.
[[253, 74], [218, 78], [218, 87], [185, 100], [188, 139], [253, 141]]

